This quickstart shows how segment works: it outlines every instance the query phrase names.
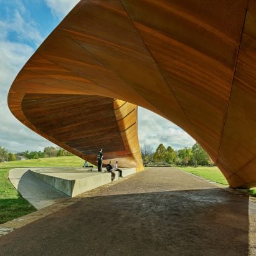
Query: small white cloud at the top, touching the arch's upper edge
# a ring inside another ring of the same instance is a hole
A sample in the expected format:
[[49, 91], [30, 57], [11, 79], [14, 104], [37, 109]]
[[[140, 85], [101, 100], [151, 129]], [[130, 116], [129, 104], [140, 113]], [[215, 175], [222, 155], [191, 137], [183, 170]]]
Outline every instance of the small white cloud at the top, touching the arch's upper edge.
[[54, 16], [62, 19], [80, 0], [45, 0]]

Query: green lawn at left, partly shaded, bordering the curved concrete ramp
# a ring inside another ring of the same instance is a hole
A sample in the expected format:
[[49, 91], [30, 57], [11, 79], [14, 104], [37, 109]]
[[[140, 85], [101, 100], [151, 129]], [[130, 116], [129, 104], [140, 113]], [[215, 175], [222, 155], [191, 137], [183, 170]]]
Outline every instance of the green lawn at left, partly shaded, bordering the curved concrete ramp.
[[0, 224], [36, 211], [12, 186], [8, 179], [9, 169], [22, 167], [82, 167], [83, 163], [84, 160], [77, 156], [0, 163]]

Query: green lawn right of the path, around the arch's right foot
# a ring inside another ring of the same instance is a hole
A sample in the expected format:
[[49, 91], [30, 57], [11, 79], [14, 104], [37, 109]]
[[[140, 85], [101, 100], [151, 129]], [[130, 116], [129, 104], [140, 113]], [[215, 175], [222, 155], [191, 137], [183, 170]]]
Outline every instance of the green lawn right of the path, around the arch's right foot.
[[[186, 171], [187, 173], [195, 174], [204, 179], [208, 179], [209, 181], [214, 181], [214, 182], [222, 184], [222, 185], [229, 185], [229, 183], [227, 183], [227, 180], [225, 179], [224, 175], [221, 173], [219, 168], [217, 168], [217, 166], [213, 166], [213, 167], [198, 166], [196, 168], [194, 168], [192, 166], [188, 166], [188, 167], [178, 167], [178, 169]], [[241, 189], [241, 191], [248, 192], [251, 196], [256, 197], [256, 189], [255, 188]]]

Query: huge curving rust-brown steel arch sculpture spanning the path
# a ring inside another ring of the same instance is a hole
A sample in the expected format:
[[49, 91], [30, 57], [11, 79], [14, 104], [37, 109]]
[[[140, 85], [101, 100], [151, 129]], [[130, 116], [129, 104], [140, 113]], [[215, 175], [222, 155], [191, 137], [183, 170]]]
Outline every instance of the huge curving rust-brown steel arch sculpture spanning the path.
[[197, 140], [232, 187], [256, 184], [256, 2], [80, 1], [22, 68], [12, 113], [95, 163], [143, 168], [137, 105]]

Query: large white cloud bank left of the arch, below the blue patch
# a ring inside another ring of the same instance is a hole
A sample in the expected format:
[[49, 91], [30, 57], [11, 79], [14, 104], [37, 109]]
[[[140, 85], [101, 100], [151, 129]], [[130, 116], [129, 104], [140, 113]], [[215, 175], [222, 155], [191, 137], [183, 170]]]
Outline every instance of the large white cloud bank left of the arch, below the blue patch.
[[51, 143], [22, 125], [7, 106], [7, 93], [34, 49], [26, 44], [0, 40], [0, 145], [11, 152], [42, 150]]

